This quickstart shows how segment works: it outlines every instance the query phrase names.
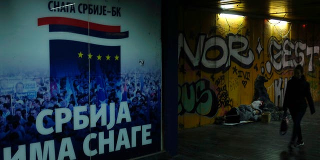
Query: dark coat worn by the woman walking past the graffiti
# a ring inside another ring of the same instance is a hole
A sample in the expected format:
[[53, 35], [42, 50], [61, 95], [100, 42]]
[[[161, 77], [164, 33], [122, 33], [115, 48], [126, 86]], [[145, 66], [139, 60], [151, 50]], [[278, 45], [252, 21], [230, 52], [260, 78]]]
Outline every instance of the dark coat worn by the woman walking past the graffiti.
[[[306, 100], [308, 103], [306, 103]], [[291, 111], [305, 111], [307, 104], [311, 114], [315, 112], [313, 99], [310, 92], [310, 84], [305, 80], [304, 75], [300, 79], [294, 76], [288, 80], [283, 101], [283, 110], [289, 108]]]

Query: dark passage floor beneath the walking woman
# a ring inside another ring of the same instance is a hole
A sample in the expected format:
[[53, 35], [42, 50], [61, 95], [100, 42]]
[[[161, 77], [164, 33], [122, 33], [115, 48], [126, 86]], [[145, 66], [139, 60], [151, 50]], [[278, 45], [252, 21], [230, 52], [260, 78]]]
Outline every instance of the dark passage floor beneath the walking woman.
[[[304, 146], [287, 144], [292, 121], [285, 135], [279, 134], [280, 121], [253, 122], [240, 126], [210, 124], [178, 132], [178, 153], [167, 159], [320, 159], [320, 105], [313, 115], [307, 110], [302, 122]], [[161, 158], [162, 159], [162, 158]]]

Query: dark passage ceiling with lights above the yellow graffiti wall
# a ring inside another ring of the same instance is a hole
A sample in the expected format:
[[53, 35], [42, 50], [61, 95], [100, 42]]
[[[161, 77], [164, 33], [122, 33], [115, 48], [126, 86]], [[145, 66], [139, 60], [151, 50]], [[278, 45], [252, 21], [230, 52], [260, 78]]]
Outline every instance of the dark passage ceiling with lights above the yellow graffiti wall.
[[320, 23], [320, 0], [179, 0], [179, 4], [217, 13]]

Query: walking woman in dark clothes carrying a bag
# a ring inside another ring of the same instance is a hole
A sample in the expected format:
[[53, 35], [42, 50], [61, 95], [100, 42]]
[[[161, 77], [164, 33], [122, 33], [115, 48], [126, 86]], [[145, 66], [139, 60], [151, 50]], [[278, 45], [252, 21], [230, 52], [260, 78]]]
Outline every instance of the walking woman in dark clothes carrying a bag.
[[284, 114], [287, 109], [289, 109], [293, 120], [293, 130], [289, 147], [293, 144], [295, 147], [304, 145], [300, 122], [306, 111], [307, 104], [309, 105], [311, 114], [313, 114], [315, 109], [310, 92], [310, 84], [305, 80], [303, 67], [299, 64], [294, 68], [294, 76], [287, 82], [283, 101]]

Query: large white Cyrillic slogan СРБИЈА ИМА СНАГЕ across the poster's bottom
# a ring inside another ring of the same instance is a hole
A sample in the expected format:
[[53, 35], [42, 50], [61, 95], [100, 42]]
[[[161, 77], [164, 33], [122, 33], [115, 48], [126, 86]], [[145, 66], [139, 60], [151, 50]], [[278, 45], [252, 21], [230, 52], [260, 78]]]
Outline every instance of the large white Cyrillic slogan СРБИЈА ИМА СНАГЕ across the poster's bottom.
[[[43, 119], [46, 116], [52, 115], [53, 111], [55, 112], [55, 128], [53, 126], [46, 128], [43, 125]], [[128, 104], [126, 101], [120, 102], [117, 116], [115, 116], [115, 104], [114, 102], [109, 105], [109, 115], [107, 115], [107, 105], [101, 104], [99, 110], [96, 110], [95, 105], [90, 106], [90, 115], [81, 114], [86, 112], [86, 106], [75, 106], [73, 108], [73, 129], [79, 130], [86, 128], [88, 126], [95, 127], [96, 122], [101, 120], [101, 126], [107, 128], [107, 132], [100, 131], [98, 133], [89, 133], [85, 136], [82, 148], [83, 153], [87, 156], [94, 156], [96, 154], [103, 154], [104, 147], [108, 146], [108, 152], [117, 151], [121, 149], [128, 149], [136, 147], [136, 139], [140, 139], [141, 145], [151, 144], [151, 124], [144, 124], [138, 126], [131, 126], [131, 128], [119, 128], [117, 132], [110, 130], [115, 123], [124, 123], [130, 122], [130, 112]], [[89, 117], [88, 117], [89, 116]], [[107, 116], [109, 116], [109, 123], [107, 124]], [[116, 117], [116, 119], [115, 119]], [[44, 109], [39, 112], [36, 117], [36, 130], [42, 134], [47, 135], [53, 132], [59, 133], [62, 131], [62, 126], [65, 123], [68, 123], [72, 119], [72, 111], [69, 108], [56, 108]], [[130, 130], [131, 136], [128, 134]], [[105, 135], [107, 133], [107, 135]], [[117, 133], [117, 139], [115, 139], [115, 133]], [[140, 138], [137, 138], [140, 136]], [[90, 146], [90, 140], [97, 140], [97, 146]], [[18, 146], [18, 149], [12, 155], [11, 147], [3, 148], [3, 159], [4, 160], [13, 160], [13, 159], [26, 159], [27, 148], [29, 149], [29, 159], [63, 159], [67, 157], [68, 159], [76, 159], [76, 155], [73, 149], [73, 144], [71, 137], [64, 137], [61, 139], [60, 143], [55, 143], [53, 139], [46, 140], [43, 142], [34, 142], [30, 143], [27, 147], [26, 144]], [[56, 155], [56, 148], [54, 146], [60, 145], [58, 154]]]

